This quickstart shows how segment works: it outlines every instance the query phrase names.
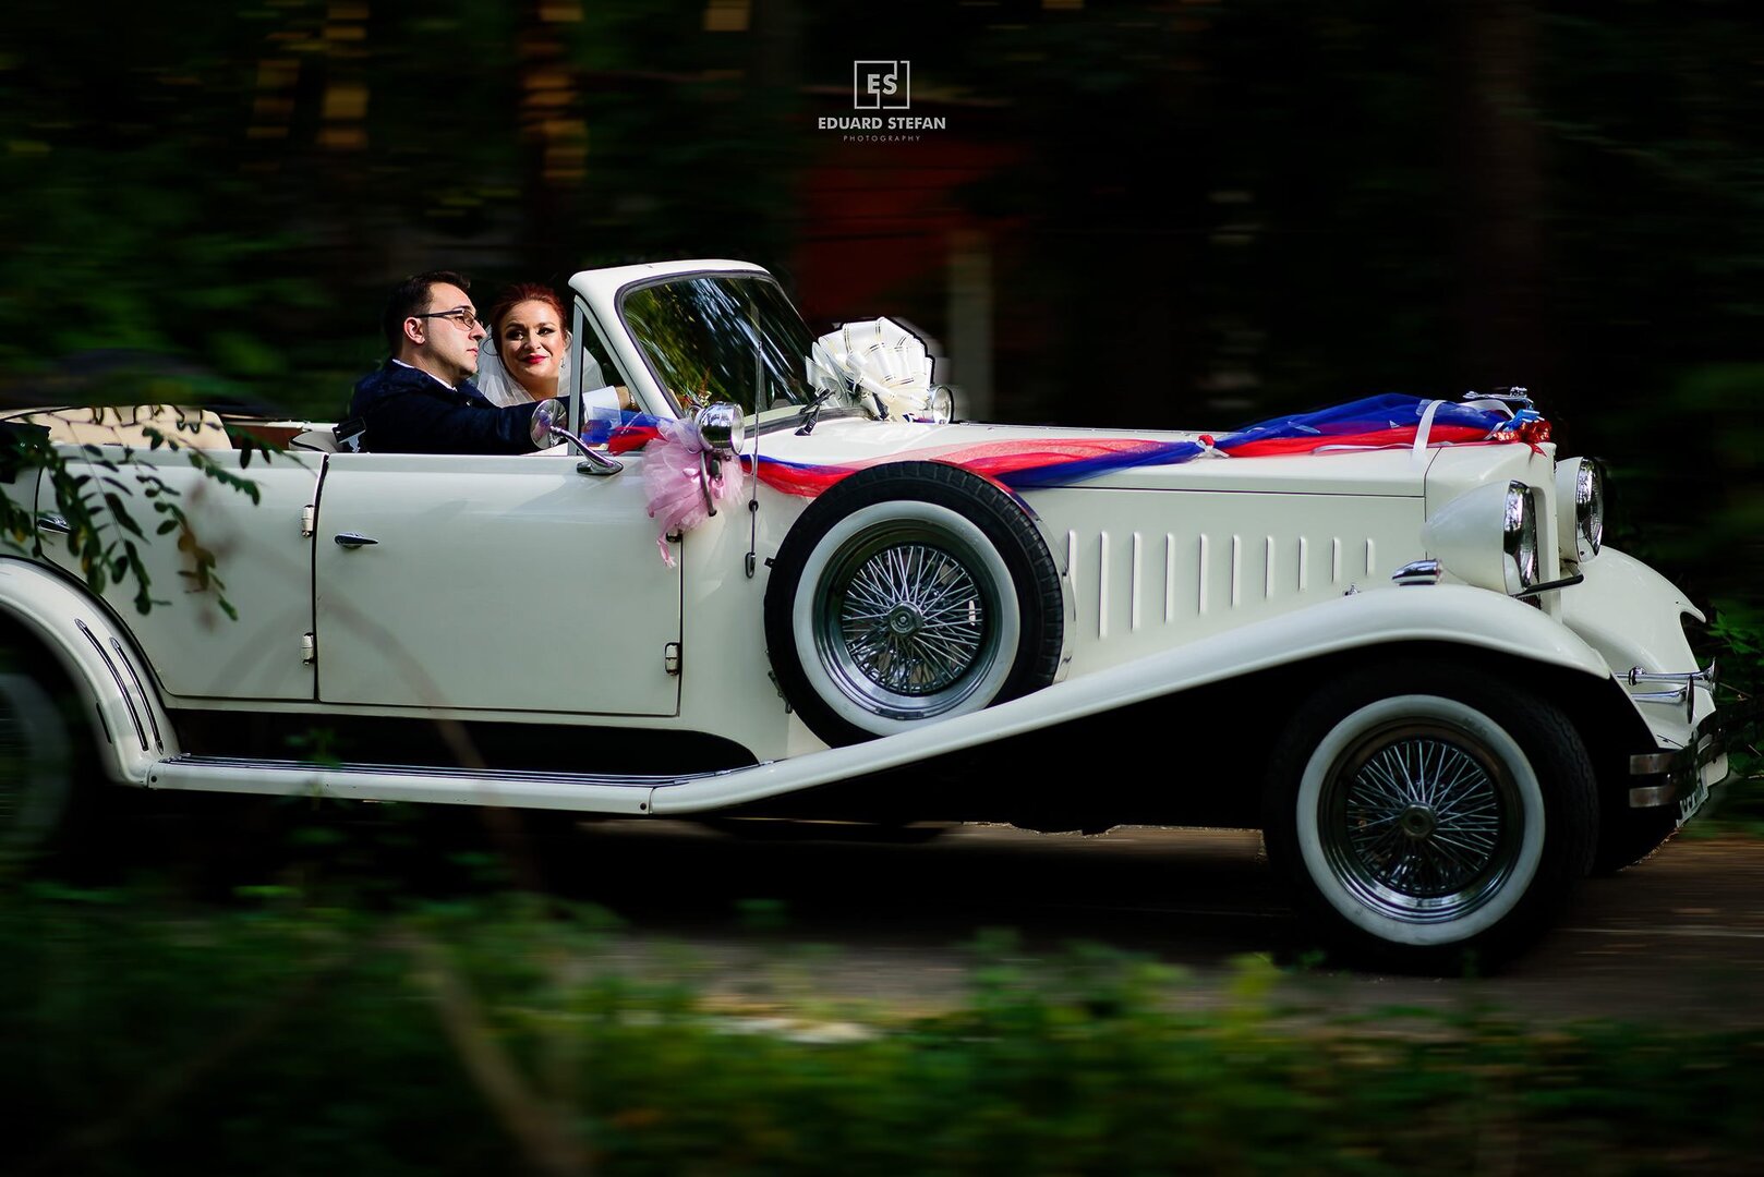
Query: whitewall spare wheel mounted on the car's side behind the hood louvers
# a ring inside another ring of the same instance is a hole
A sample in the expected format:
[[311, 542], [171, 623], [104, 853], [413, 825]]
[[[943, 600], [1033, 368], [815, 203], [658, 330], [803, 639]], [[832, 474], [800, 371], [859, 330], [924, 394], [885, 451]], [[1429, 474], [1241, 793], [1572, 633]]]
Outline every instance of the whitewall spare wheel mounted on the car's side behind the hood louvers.
[[1064, 589], [1023, 505], [940, 462], [884, 462], [810, 503], [766, 561], [766, 656], [829, 745], [1051, 683]]

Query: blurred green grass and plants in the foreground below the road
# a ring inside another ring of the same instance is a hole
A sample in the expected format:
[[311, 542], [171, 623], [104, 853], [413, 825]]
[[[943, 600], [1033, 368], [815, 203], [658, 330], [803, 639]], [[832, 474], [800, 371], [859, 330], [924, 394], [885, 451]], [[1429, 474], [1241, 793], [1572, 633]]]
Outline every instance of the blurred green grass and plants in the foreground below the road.
[[0, 1165], [28, 1173], [1748, 1172], [1764, 1038], [1221, 1008], [1097, 946], [975, 944], [935, 1013], [706, 1001], [594, 909], [0, 907]]

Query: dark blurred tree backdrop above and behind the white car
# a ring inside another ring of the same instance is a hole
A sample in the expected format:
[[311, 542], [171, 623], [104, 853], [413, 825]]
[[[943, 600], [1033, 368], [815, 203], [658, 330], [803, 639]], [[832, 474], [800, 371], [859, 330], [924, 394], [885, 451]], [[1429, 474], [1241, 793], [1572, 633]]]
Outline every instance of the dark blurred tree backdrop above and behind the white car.
[[[0, 30], [9, 397], [335, 416], [418, 268], [751, 258], [811, 323], [949, 328], [993, 416], [1230, 427], [1533, 386], [1618, 540], [1753, 598], [1764, 21], [1741, 0], [42, 0]], [[854, 56], [949, 131], [848, 145]], [[882, 277], [878, 256], [919, 263]], [[866, 282], [866, 274], [877, 272]], [[801, 279], [801, 281], [799, 281]], [[954, 356], [960, 372], [961, 356]]]

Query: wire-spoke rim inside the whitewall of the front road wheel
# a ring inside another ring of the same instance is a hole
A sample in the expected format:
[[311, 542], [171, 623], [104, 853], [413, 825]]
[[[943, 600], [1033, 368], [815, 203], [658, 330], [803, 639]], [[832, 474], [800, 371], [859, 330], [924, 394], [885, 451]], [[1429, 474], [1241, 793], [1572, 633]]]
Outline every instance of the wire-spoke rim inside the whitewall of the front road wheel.
[[1362, 903], [1404, 921], [1459, 919], [1512, 875], [1519, 808], [1512, 775], [1468, 732], [1399, 723], [1337, 761], [1319, 835]]

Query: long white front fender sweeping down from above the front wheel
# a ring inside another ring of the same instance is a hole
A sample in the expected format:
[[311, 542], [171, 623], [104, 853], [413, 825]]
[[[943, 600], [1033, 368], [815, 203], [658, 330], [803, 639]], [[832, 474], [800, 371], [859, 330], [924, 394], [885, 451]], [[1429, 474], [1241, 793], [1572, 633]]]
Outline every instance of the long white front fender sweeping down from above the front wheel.
[[1376, 589], [1335, 596], [882, 739], [663, 785], [654, 791], [651, 812], [693, 813], [743, 805], [903, 768], [1258, 671], [1357, 649], [1376, 655], [1415, 642], [1478, 648], [1582, 672], [1589, 686], [1611, 681], [1611, 667], [1596, 649], [1554, 618], [1512, 596], [1461, 584]]

